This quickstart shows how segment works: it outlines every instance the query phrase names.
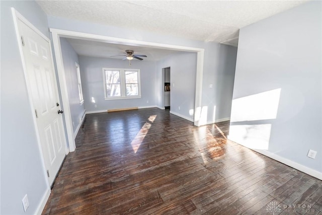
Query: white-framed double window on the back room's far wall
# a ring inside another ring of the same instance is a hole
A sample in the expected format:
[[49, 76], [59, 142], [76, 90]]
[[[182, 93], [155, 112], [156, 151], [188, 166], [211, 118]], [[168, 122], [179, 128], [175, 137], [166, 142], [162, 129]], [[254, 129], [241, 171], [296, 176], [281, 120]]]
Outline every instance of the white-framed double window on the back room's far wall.
[[103, 68], [105, 100], [141, 98], [140, 69]]

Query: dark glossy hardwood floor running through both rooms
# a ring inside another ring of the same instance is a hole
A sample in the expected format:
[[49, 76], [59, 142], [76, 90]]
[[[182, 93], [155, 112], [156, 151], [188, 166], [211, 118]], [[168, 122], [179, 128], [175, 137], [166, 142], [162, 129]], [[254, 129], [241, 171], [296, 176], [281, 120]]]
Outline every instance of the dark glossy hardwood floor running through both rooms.
[[88, 114], [43, 214], [322, 214], [322, 181], [228, 128], [157, 108]]

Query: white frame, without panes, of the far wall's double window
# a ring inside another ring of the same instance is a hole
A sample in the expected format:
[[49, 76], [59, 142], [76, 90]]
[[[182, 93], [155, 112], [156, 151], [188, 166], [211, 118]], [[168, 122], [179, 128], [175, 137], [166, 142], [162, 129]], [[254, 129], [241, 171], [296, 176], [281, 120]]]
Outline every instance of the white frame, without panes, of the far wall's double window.
[[[120, 87], [121, 87], [121, 96], [108, 97], [106, 89], [106, 77], [105, 71], [120, 71]], [[126, 80], [125, 72], [126, 71], [136, 71], [137, 72], [137, 84], [138, 84], [138, 95], [137, 96], [127, 96], [126, 95]], [[103, 84], [104, 84], [104, 96], [105, 100], [117, 100], [117, 99], [140, 99], [141, 98], [141, 76], [140, 69], [133, 68], [103, 68]]]

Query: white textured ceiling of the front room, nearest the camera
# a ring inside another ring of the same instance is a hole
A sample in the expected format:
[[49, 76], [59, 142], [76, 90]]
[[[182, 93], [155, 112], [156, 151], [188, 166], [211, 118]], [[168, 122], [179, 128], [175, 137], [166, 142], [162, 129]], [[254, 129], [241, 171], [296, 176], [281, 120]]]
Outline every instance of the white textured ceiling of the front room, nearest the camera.
[[51, 16], [207, 42], [224, 42], [236, 38], [239, 28], [304, 2], [37, 1], [45, 13]]

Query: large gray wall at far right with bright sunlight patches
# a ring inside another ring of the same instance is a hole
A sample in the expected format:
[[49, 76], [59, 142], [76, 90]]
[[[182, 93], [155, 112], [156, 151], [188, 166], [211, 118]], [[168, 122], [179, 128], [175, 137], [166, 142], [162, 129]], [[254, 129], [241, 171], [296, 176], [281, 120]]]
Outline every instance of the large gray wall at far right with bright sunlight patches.
[[[321, 17], [321, 2], [313, 1], [240, 29], [229, 134], [253, 149], [261, 148], [254, 139], [269, 141], [263, 153], [320, 173]], [[280, 95], [269, 96], [276, 89]], [[315, 160], [306, 157], [309, 149]]]

